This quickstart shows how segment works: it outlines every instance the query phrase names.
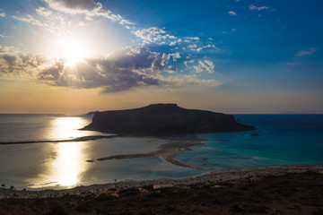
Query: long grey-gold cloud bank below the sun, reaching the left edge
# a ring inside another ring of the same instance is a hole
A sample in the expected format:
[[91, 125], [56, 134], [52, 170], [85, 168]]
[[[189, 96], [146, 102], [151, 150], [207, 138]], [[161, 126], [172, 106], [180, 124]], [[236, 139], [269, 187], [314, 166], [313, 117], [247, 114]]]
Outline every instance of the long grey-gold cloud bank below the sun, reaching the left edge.
[[163, 73], [178, 71], [168, 65], [170, 57], [180, 58], [179, 53], [161, 56], [148, 47], [126, 47], [105, 58], [85, 58], [75, 66], [68, 66], [64, 59], [48, 64], [43, 56], [21, 56], [13, 47], [0, 47], [0, 76], [22, 76], [50, 86], [99, 88], [104, 93], [147, 86], [212, 87], [221, 84], [198, 79], [196, 75], [165, 76]]

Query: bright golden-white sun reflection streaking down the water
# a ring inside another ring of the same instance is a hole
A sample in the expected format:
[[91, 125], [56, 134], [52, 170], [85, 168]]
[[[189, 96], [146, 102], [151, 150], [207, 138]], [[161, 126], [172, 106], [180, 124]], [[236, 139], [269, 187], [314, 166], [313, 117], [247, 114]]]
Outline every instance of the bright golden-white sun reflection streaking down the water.
[[[88, 122], [81, 117], [57, 117], [51, 122], [51, 139], [69, 139], [88, 135], [77, 130]], [[42, 164], [38, 176], [29, 180], [30, 188], [72, 187], [81, 185], [83, 172], [88, 168], [90, 152], [87, 142], [43, 143], [50, 147], [48, 159]]]

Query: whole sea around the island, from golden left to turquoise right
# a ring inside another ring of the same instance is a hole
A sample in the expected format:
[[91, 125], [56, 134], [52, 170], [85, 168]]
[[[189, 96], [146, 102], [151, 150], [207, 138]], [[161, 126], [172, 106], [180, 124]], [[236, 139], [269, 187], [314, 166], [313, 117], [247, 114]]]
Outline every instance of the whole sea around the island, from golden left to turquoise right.
[[205, 168], [196, 170], [156, 157], [96, 160], [151, 152], [166, 142], [152, 137], [64, 142], [111, 135], [80, 130], [91, 123], [91, 115], [0, 114], [0, 185], [28, 190], [65, 189], [122, 180], [198, 176], [212, 170], [323, 164], [323, 115], [234, 116], [257, 130], [196, 133], [208, 142], [174, 154], [176, 159]]

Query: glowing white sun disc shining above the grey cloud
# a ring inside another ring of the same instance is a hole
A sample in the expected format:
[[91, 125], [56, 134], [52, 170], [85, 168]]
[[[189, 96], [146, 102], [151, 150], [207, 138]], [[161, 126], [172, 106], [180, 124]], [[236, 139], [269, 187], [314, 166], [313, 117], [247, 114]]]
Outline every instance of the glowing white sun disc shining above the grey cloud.
[[66, 65], [74, 66], [83, 60], [84, 48], [82, 43], [74, 39], [59, 42], [60, 54], [65, 59]]

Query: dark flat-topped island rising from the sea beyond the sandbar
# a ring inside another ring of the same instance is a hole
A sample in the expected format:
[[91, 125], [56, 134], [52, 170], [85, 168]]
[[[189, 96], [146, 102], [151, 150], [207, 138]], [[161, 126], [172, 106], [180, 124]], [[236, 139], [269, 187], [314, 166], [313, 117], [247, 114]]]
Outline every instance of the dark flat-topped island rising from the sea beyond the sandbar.
[[135, 136], [221, 133], [254, 130], [237, 123], [234, 116], [211, 111], [186, 109], [176, 104], [97, 112], [84, 130]]

